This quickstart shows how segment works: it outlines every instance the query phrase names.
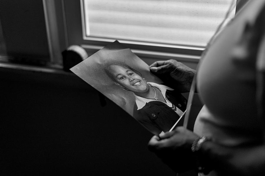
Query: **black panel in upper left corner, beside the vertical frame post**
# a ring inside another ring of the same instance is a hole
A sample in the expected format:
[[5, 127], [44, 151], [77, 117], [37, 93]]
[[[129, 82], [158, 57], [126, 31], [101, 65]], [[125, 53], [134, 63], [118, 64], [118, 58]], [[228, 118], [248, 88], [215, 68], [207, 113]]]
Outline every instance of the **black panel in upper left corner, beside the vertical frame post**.
[[6, 53], [13, 57], [49, 61], [42, 1], [1, 0], [0, 9]]

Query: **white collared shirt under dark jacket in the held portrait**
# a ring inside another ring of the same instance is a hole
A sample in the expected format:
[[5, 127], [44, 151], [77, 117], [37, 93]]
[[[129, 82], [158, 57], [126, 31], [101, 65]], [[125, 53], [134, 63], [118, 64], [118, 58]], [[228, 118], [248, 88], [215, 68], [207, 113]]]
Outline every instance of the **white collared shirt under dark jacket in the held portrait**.
[[[148, 82], [148, 84], [150, 84], [152, 87], [158, 88], [161, 91], [164, 99], [166, 100], [166, 103], [163, 102], [163, 101], [161, 101], [161, 102], [165, 103], [170, 108], [172, 108], [172, 105], [173, 104], [167, 99], [167, 97], [165, 96], [165, 93], [166, 93], [167, 90], [174, 90], [174, 89], [171, 89], [170, 87], [167, 87], [165, 85], [156, 84], [156, 83], [153, 83], [153, 82]], [[150, 102], [150, 101], [159, 101], [159, 100], [146, 99], [146, 98], [139, 97], [139, 96], [135, 95], [135, 103], [137, 105], [137, 110], [142, 109], [145, 106], [145, 104], [148, 103], [148, 102]], [[175, 106], [175, 105], [173, 105], [173, 106]], [[183, 111], [181, 111], [180, 109], [178, 109], [178, 107], [176, 107], [175, 109], [176, 109], [175, 112], [179, 116], [181, 116], [183, 114]]]

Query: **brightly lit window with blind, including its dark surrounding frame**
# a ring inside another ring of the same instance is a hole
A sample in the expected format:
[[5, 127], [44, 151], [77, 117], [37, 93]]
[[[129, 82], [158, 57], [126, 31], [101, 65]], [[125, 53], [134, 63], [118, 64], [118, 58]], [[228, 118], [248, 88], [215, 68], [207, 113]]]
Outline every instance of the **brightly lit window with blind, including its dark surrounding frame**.
[[[200, 59], [230, 5], [236, 4], [236, 0], [62, 2], [69, 45], [81, 45], [89, 55], [117, 39], [150, 62], [177, 59], [193, 63]], [[234, 14], [235, 8], [228, 18]]]

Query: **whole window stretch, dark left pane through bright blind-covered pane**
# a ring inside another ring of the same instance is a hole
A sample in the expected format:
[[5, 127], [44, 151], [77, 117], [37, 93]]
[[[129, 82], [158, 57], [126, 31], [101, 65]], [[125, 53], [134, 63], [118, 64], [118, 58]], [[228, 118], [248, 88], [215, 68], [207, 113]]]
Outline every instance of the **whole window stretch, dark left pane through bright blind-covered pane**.
[[117, 39], [141, 58], [198, 62], [237, 1], [42, 0], [34, 9], [30, 0], [0, 2], [0, 39], [5, 40], [0, 53], [61, 64], [61, 52], [69, 45], [81, 45], [92, 55]]

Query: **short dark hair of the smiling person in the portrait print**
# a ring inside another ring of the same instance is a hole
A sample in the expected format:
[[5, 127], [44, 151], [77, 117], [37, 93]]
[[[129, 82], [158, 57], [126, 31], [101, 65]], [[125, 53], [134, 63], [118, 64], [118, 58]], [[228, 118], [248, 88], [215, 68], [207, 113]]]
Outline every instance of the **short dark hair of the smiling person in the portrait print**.
[[111, 69], [110, 69], [111, 65], [118, 65], [118, 66], [121, 66], [123, 68], [127, 68], [127, 69], [132, 70], [133, 72], [135, 72], [137, 75], [142, 76], [142, 74], [140, 72], [138, 72], [134, 68], [130, 67], [129, 65], [125, 64], [125, 62], [117, 62], [117, 61], [116, 62], [106, 62], [104, 64], [104, 71], [105, 71], [106, 75], [108, 77], [110, 77], [110, 79], [112, 79], [112, 81], [114, 81], [116, 83], [118, 83], [118, 82], [117, 82], [117, 80], [115, 79], [114, 75], [111, 72]]

